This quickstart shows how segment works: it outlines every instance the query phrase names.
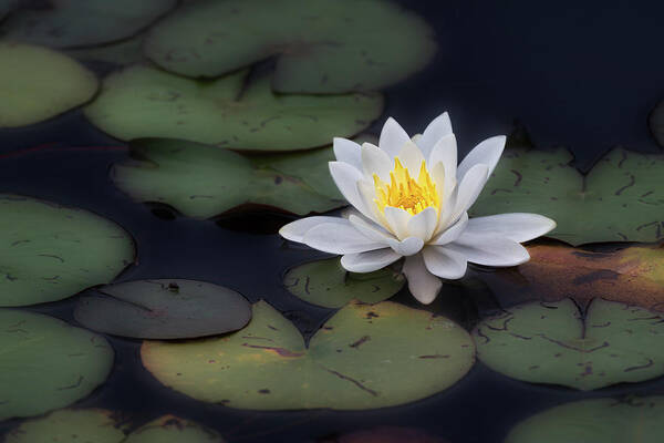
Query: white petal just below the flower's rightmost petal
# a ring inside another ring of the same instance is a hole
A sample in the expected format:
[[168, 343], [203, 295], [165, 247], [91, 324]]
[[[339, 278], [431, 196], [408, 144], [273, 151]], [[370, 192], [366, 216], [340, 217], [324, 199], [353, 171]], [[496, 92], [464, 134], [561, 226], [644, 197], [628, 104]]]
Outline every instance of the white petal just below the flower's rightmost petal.
[[467, 231], [445, 248], [463, 254], [468, 261], [485, 266], [517, 266], [530, 258], [526, 248], [515, 240]]

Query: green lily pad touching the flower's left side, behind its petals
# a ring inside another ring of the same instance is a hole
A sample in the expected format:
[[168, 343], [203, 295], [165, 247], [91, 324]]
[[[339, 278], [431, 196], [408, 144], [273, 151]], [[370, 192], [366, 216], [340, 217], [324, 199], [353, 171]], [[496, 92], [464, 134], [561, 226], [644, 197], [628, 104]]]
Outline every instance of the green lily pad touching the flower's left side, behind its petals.
[[[331, 147], [273, 155], [270, 161], [175, 140], [137, 141], [131, 148], [137, 159], [114, 165], [113, 183], [137, 202], [168, 204], [188, 217], [209, 218], [246, 205], [299, 215], [347, 205], [328, 171]], [[291, 175], [283, 167], [291, 158], [309, 164], [309, 169]]]

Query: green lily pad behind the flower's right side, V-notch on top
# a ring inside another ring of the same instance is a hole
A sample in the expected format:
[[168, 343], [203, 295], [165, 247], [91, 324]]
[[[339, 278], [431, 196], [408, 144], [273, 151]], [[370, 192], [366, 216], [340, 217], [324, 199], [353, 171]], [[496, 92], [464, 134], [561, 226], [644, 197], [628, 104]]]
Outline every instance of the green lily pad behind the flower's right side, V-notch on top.
[[547, 236], [574, 246], [664, 238], [664, 156], [616, 148], [587, 176], [571, 161], [563, 148], [506, 151], [473, 215], [542, 214], [558, 224]]

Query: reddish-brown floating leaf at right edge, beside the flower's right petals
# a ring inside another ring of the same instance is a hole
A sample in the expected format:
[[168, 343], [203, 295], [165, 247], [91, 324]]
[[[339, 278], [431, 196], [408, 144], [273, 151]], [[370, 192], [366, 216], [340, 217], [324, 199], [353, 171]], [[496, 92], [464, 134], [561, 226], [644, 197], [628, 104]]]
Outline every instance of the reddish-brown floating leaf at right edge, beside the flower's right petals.
[[501, 291], [519, 291], [544, 300], [571, 297], [584, 305], [595, 297], [664, 310], [664, 247], [631, 246], [590, 251], [562, 245], [528, 246], [530, 260], [512, 271], [491, 272], [486, 280]]

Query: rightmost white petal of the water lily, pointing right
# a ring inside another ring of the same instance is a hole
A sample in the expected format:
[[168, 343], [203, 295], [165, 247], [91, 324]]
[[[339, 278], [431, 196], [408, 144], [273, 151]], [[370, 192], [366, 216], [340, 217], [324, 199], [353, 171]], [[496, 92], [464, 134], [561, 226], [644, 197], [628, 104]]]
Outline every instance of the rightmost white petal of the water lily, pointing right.
[[468, 234], [495, 235], [518, 243], [532, 240], [556, 228], [556, 222], [539, 214], [499, 214], [475, 217], [468, 222]]

